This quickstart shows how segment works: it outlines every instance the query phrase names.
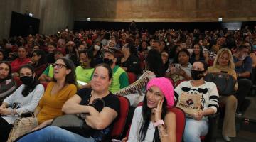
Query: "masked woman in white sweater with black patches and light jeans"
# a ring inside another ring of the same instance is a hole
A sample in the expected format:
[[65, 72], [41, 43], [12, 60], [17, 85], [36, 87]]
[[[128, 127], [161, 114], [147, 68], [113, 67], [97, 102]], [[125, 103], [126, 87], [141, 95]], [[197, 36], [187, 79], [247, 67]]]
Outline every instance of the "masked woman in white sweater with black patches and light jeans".
[[200, 136], [208, 133], [208, 115], [215, 114], [218, 109], [218, 90], [213, 82], [206, 82], [203, 76], [207, 72], [207, 63], [198, 60], [193, 63], [190, 81], [181, 82], [174, 89], [175, 99], [183, 93], [202, 94], [201, 109], [196, 114], [186, 118], [186, 126], [183, 134], [184, 142], [200, 142]]

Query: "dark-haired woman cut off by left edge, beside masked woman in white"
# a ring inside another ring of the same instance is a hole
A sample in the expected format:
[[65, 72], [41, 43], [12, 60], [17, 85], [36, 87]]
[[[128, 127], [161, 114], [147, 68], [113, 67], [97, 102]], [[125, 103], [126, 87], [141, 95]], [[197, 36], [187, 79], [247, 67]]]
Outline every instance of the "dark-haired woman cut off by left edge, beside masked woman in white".
[[16, 82], [11, 77], [11, 65], [0, 62], [0, 104], [16, 90]]

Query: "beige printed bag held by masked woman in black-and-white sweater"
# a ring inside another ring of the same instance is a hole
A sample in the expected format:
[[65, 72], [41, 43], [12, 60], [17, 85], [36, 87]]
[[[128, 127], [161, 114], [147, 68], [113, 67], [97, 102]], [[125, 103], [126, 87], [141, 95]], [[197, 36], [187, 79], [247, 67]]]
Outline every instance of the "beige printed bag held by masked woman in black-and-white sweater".
[[181, 108], [186, 116], [191, 117], [198, 111], [201, 111], [201, 97], [202, 94], [188, 94], [182, 92], [181, 96], [178, 97], [176, 107]]

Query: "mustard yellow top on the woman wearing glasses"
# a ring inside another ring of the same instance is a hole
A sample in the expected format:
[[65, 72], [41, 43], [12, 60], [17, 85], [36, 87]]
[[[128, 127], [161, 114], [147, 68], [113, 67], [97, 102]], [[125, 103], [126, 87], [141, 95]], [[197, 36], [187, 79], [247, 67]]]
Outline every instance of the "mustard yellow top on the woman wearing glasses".
[[55, 119], [57, 116], [63, 115], [61, 108], [63, 104], [75, 95], [77, 87], [74, 84], [68, 84], [61, 89], [57, 94], [51, 94], [55, 82], [50, 82], [46, 88], [46, 92], [43, 94], [38, 107], [40, 111], [37, 115], [38, 124], [49, 119]]

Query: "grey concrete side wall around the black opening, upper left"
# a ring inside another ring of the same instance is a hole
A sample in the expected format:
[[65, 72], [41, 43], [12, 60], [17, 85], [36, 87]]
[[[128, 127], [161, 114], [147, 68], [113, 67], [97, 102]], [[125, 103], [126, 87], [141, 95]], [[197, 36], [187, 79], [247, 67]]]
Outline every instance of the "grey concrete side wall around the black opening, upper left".
[[40, 19], [39, 33], [56, 33], [68, 26], [73, 28], [72, 0], [1, 0], [0, 2], [0, 39], [8, 38], [11, 26], [11, 11], [33, 13]]

